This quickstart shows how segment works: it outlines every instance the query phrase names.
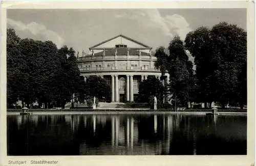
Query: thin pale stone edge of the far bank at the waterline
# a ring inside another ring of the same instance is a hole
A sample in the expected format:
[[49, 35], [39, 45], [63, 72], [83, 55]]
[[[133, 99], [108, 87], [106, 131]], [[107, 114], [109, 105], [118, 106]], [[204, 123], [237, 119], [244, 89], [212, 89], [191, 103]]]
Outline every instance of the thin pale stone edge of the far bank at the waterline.
[[[20, 112], [7, 112], [6, 115], [19, 115]], [[175, 115], [175, 114], [182, 114], [182, 115], [206, 115], [209, 112], [145, 112], [145, 111], [121, 111], [121, 112], [117, 112], [117, 111], [108, 111], [108, 112], [104, 112], [104, 111], [86, 111], [86, 112], [68, 112], [68, 111], [64, 111], [64, 112], [60, 112], [60, 111], [56, 111], [56, 112], [29, 112], [32, 113], [31, 115], [126, 115], [126, 114], [132, 114], [132, 115], [145, 115], [145, 114], [165, 114], [165, 115]], [[219, 115], [246, 115], [247, 116], [247, 112], [218, 112]]]

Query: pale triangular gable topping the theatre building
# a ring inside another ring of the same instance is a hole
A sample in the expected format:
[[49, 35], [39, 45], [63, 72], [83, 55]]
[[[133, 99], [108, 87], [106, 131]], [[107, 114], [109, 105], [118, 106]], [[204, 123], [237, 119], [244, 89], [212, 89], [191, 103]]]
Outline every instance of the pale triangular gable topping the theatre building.
[[113, 48], [115, 47], [116, 44], [124, 44], [127, 45], [127, 47], [130, 48], [148, 48], [151, 49], [152, 47], [147, 46], [141, 42], [138, 42], [134, 39], [131, 39], [129, 37], [126, 37], [124, 35], [118, 35], [115, 36], [111, 39], [105, 40], [99, 44], [96, 44], [92, 47], [90, 47], [89, 49], [93, 49], [93, 48]]

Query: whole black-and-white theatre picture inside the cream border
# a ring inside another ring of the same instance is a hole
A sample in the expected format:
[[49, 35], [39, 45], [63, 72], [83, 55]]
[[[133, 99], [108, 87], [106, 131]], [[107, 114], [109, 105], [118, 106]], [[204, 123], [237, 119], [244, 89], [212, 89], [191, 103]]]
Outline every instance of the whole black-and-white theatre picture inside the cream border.
[[8, 8], [7, 156], [246, 156], [247, 12]]

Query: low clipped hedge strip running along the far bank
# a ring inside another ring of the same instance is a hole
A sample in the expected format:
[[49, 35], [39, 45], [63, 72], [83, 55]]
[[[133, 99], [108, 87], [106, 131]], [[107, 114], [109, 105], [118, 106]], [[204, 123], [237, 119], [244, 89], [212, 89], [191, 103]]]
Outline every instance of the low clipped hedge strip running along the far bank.
[[[29, 112], [174, 112], [173, 109], [28, 109]], [[211, 109], [185, 109], [178, 112], [211, 112]], [[22, 112], [22, 109], [7, 109], [7, 112]], [[219, 109], [218, 112], [247, 112], [247, 109]]]

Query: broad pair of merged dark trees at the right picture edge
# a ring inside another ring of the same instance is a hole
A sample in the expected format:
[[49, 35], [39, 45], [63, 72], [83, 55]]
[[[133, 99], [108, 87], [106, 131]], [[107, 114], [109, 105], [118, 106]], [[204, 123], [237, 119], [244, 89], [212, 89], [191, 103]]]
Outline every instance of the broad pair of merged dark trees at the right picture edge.
[[243, 29], [226, 22], [187, 34], [185, 48], [195, 57], [199, 101], [223, 107], [231, 100], [246, 104], [246, 38]]

